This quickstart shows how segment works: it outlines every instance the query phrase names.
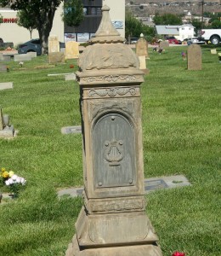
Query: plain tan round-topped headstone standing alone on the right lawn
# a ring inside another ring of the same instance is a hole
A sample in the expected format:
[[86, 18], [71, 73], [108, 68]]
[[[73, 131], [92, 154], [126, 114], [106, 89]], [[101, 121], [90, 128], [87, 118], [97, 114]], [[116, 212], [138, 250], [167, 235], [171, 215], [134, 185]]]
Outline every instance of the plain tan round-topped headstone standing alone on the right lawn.
[[201, 46], [191, 44], [187, 49], [188, 70], [201, 70]]

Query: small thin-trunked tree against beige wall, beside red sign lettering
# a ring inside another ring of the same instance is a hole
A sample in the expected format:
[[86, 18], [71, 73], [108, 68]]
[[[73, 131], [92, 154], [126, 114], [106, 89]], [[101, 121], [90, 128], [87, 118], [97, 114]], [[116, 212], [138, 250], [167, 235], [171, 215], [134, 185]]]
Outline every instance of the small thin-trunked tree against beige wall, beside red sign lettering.
[[17, 13], [17, 18], [17, 24], [25, 27], [30, 32], [30, 37], [32, 38], [32, 31], [37, 28], [37, 25], [35, 20], [31, 19], [31, 12], [28, 12], [26, 9], [20, 10]]

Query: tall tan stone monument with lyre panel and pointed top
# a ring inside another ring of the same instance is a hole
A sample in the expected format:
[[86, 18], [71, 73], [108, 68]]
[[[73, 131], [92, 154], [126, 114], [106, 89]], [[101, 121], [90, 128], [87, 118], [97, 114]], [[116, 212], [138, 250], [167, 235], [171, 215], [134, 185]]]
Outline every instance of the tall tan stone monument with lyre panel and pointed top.
[[79, 58], [84, 206], [66, 256], [161, 256], [145, 213], [139, 60], [109, 8]]

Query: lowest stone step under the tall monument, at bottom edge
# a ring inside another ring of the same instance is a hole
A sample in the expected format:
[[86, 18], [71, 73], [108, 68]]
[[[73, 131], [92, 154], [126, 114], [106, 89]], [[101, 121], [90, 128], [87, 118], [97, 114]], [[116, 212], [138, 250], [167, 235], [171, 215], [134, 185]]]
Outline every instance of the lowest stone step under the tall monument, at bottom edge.
[[65, 256], [162, 256], [161, 248], [157, 245], [135, 245], [122, 247], [100, 247], [82, 250], [73, 237]]

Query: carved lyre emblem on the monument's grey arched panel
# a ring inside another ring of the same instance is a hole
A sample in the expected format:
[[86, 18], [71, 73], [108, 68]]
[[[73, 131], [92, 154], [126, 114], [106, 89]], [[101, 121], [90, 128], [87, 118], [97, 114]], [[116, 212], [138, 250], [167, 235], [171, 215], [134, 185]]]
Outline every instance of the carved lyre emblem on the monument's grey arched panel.
[[105, 160], [110, 162], [109, 166], [120, 166], [119, 162], [124, 157], [122, 144], [122, 140], [105, 141]]

